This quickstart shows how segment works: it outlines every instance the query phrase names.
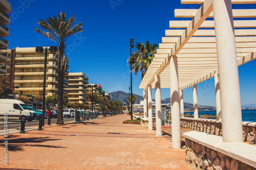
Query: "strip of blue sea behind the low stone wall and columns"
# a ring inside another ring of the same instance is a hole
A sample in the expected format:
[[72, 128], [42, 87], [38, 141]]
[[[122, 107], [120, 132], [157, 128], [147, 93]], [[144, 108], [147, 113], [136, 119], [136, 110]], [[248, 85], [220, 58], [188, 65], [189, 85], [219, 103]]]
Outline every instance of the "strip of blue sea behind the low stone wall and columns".
[[[194, 114], [194, 112], [184, 112], [184, 114]], [[216, 115], [216, 111], [199, 111], [198, 114]], [[245, 122], [256, 122], [256, 110], [242, 110], [242, 120]]]

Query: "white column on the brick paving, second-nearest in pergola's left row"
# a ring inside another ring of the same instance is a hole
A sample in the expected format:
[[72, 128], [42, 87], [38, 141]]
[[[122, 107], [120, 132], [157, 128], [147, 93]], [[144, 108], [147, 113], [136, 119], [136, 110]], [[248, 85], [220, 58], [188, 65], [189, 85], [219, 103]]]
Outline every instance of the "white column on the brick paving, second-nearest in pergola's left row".
[[172, 113], [172, 147], [181, 148], [180, 141], [180, 99], [177, 56], [170, 57], [170, 103]]

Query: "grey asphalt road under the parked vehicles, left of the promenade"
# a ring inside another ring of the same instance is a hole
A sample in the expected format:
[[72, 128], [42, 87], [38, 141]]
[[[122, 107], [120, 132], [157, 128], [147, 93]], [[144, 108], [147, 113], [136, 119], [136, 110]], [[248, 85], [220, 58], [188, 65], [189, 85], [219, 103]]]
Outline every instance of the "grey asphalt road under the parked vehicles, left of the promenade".
[[[74, 120], [74, 117], [64, 118], [64, 122]], [[54, 124], [57, 122], [56, 118], [51, 119], [51, 123]], [[48, 124], [48, 119], [45, 119], [45, 125]], [[26, 121], [25, 127], [38, 126], [38, 120], [32, 120], [31, 122]], [[20, 120], [8, 120], [8, 129], [17, 129], [20, 128]], [[0, 130], [4, 130], [4, 119], [0, 119]]]

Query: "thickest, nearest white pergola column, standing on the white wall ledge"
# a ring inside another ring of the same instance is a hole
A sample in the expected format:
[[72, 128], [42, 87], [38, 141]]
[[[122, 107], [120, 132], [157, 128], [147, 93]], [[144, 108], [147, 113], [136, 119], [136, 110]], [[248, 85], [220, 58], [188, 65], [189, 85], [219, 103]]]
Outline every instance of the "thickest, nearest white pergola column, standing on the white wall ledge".
[[219, 68], [222, 139], [243, 142], [236, 40], [231, 0], [212, 0]]

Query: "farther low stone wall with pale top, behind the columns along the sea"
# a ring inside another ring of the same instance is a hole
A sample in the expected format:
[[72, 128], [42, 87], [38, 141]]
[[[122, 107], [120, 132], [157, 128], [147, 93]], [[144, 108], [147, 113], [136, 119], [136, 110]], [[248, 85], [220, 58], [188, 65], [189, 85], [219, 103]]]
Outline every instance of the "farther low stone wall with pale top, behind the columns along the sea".
[[[181, 117], [180, 126], [209, 134], [222, 136], [221, 120], [207, 118]], [[243, 137], [245, 142], [256, 143], [256, 123], [243, 122]]]

